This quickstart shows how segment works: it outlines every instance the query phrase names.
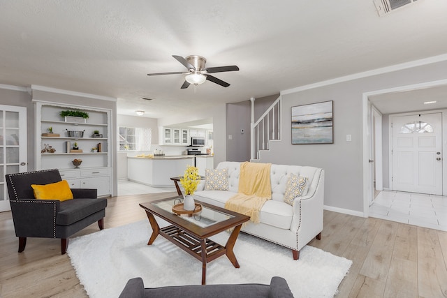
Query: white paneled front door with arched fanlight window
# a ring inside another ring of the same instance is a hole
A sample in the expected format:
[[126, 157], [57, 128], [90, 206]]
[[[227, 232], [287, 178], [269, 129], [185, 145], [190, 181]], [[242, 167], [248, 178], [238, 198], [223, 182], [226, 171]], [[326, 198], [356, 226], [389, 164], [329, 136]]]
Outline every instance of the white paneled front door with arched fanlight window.
[[395, 191], [442, 195], [442, 115], [392, 117]]

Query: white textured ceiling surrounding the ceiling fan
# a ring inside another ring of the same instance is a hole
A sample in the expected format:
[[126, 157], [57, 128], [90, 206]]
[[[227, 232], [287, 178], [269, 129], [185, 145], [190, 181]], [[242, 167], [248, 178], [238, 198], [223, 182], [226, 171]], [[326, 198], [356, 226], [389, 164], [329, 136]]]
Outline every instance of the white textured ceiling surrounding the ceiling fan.
[[[0, 0], [0, 84], [119, 98], [122, 114], [179, 114], [447, 53], [447, 1], [379, 17], [369, 0]], [[228, 88], [180, 89], [198, 54]], [[140, 100], [141, 97], [153, 100]]]

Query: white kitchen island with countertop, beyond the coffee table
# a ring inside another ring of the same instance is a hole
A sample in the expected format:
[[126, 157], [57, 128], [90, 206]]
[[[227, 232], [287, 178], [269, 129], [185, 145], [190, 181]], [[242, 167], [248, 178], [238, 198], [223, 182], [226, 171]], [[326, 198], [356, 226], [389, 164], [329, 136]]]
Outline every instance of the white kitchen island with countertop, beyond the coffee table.
[[127, 175], [130, 181], [152, 187], [174, 187], [170, 177], [183, 176], [188, 165], [194, 165], [194, 156], [127, 157]]

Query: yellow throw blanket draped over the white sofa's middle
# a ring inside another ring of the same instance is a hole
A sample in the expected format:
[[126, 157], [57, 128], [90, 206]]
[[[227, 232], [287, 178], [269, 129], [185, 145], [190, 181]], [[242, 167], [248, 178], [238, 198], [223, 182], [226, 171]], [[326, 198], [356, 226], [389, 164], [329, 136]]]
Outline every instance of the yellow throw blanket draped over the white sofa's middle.
[[259, 211], [264, 203], [272, 198], [271, 165], [271, 163], [242, 163], [237, 195], [226, 201], [225, 208], [250, 216], [251, 221], [259, 223]]

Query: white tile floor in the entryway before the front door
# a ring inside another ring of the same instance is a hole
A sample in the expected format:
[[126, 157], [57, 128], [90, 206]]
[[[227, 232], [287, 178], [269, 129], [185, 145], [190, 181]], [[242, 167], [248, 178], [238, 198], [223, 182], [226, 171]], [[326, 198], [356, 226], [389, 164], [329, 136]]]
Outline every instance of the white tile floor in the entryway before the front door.
[[400, 191], [381, 191], [369, 216], [447, 231], [447, 197]]

